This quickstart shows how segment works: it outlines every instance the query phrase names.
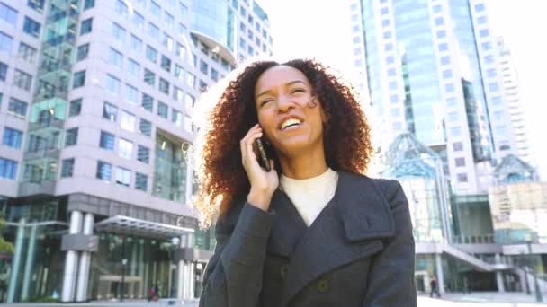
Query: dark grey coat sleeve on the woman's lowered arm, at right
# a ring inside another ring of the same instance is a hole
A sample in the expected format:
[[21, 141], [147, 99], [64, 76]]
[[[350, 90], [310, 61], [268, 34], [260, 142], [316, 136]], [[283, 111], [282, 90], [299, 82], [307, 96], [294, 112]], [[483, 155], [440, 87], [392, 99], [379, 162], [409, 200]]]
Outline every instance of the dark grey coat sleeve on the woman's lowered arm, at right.
[[416, 307], [415, 245], [408, 200], [399, 181], [389, 180], [386, 184], [384, 195], [390, 204], [395, 233], [372, 259], [363, 307]]

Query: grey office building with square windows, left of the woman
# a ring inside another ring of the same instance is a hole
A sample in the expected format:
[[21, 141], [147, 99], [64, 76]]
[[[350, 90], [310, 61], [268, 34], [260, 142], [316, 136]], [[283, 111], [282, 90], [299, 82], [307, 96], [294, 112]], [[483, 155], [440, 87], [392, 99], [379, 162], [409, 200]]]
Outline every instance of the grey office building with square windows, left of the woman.
[[0, 302], [197, 297], [193, 104], [271, 50], [249, 0], [1, 0]]

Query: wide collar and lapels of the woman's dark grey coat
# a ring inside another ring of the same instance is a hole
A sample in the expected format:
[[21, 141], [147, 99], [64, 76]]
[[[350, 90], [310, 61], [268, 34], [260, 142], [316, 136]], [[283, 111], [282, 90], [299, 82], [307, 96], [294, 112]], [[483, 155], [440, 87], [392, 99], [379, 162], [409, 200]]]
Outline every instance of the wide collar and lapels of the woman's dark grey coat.
[[[280, 197], [284, 198], [277, 199], [280, 202], [276, 205], [282, 219], [277, 219], [281, 220], [277, 227], [273, 222], [273, 240], [268, 248], [291, 258], [281, 306], [319, 276], [381, 250], [381, 241], [372, 239], [388, 238], [394, 233], [386, 199], [365, 176], [340, 171], [335, 197], [309, 229], [288, 197]], [[284, 221], [285, 214], [291, 218], [296, 215], [300, 221]]]

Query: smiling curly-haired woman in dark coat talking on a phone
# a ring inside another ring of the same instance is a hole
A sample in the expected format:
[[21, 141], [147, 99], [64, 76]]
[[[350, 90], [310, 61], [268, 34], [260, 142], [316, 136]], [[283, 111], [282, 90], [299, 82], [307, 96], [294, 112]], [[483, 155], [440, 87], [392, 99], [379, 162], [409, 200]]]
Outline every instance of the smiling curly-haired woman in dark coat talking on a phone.
[[197, 206], [220, 217], [201, 307], [417, 305], [408, 201], [362, 174], [370, 127], [350, 88], [313, 60], [255, 62], [210, 120]]

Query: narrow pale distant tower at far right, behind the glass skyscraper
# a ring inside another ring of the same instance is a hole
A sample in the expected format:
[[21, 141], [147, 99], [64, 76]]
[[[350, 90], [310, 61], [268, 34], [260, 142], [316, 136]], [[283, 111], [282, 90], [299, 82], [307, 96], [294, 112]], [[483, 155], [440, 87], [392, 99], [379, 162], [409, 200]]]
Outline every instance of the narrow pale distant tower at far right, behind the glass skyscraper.
[[[498, 37], [497, 42], [501, 78], [505, 90], [507, 107], [509, 108], [511, 127], [515, 133], [516, 155], [523, 161], [534, 165], [533, 151], [530, 148], [527, 136], [524, 105], [519, 91], [520, 84], [516, 66], [511, 56], [511, 50], [507, 47], [503, 38]], [[498, 113], [495, 113], [494, 116], [498, 116]]]

